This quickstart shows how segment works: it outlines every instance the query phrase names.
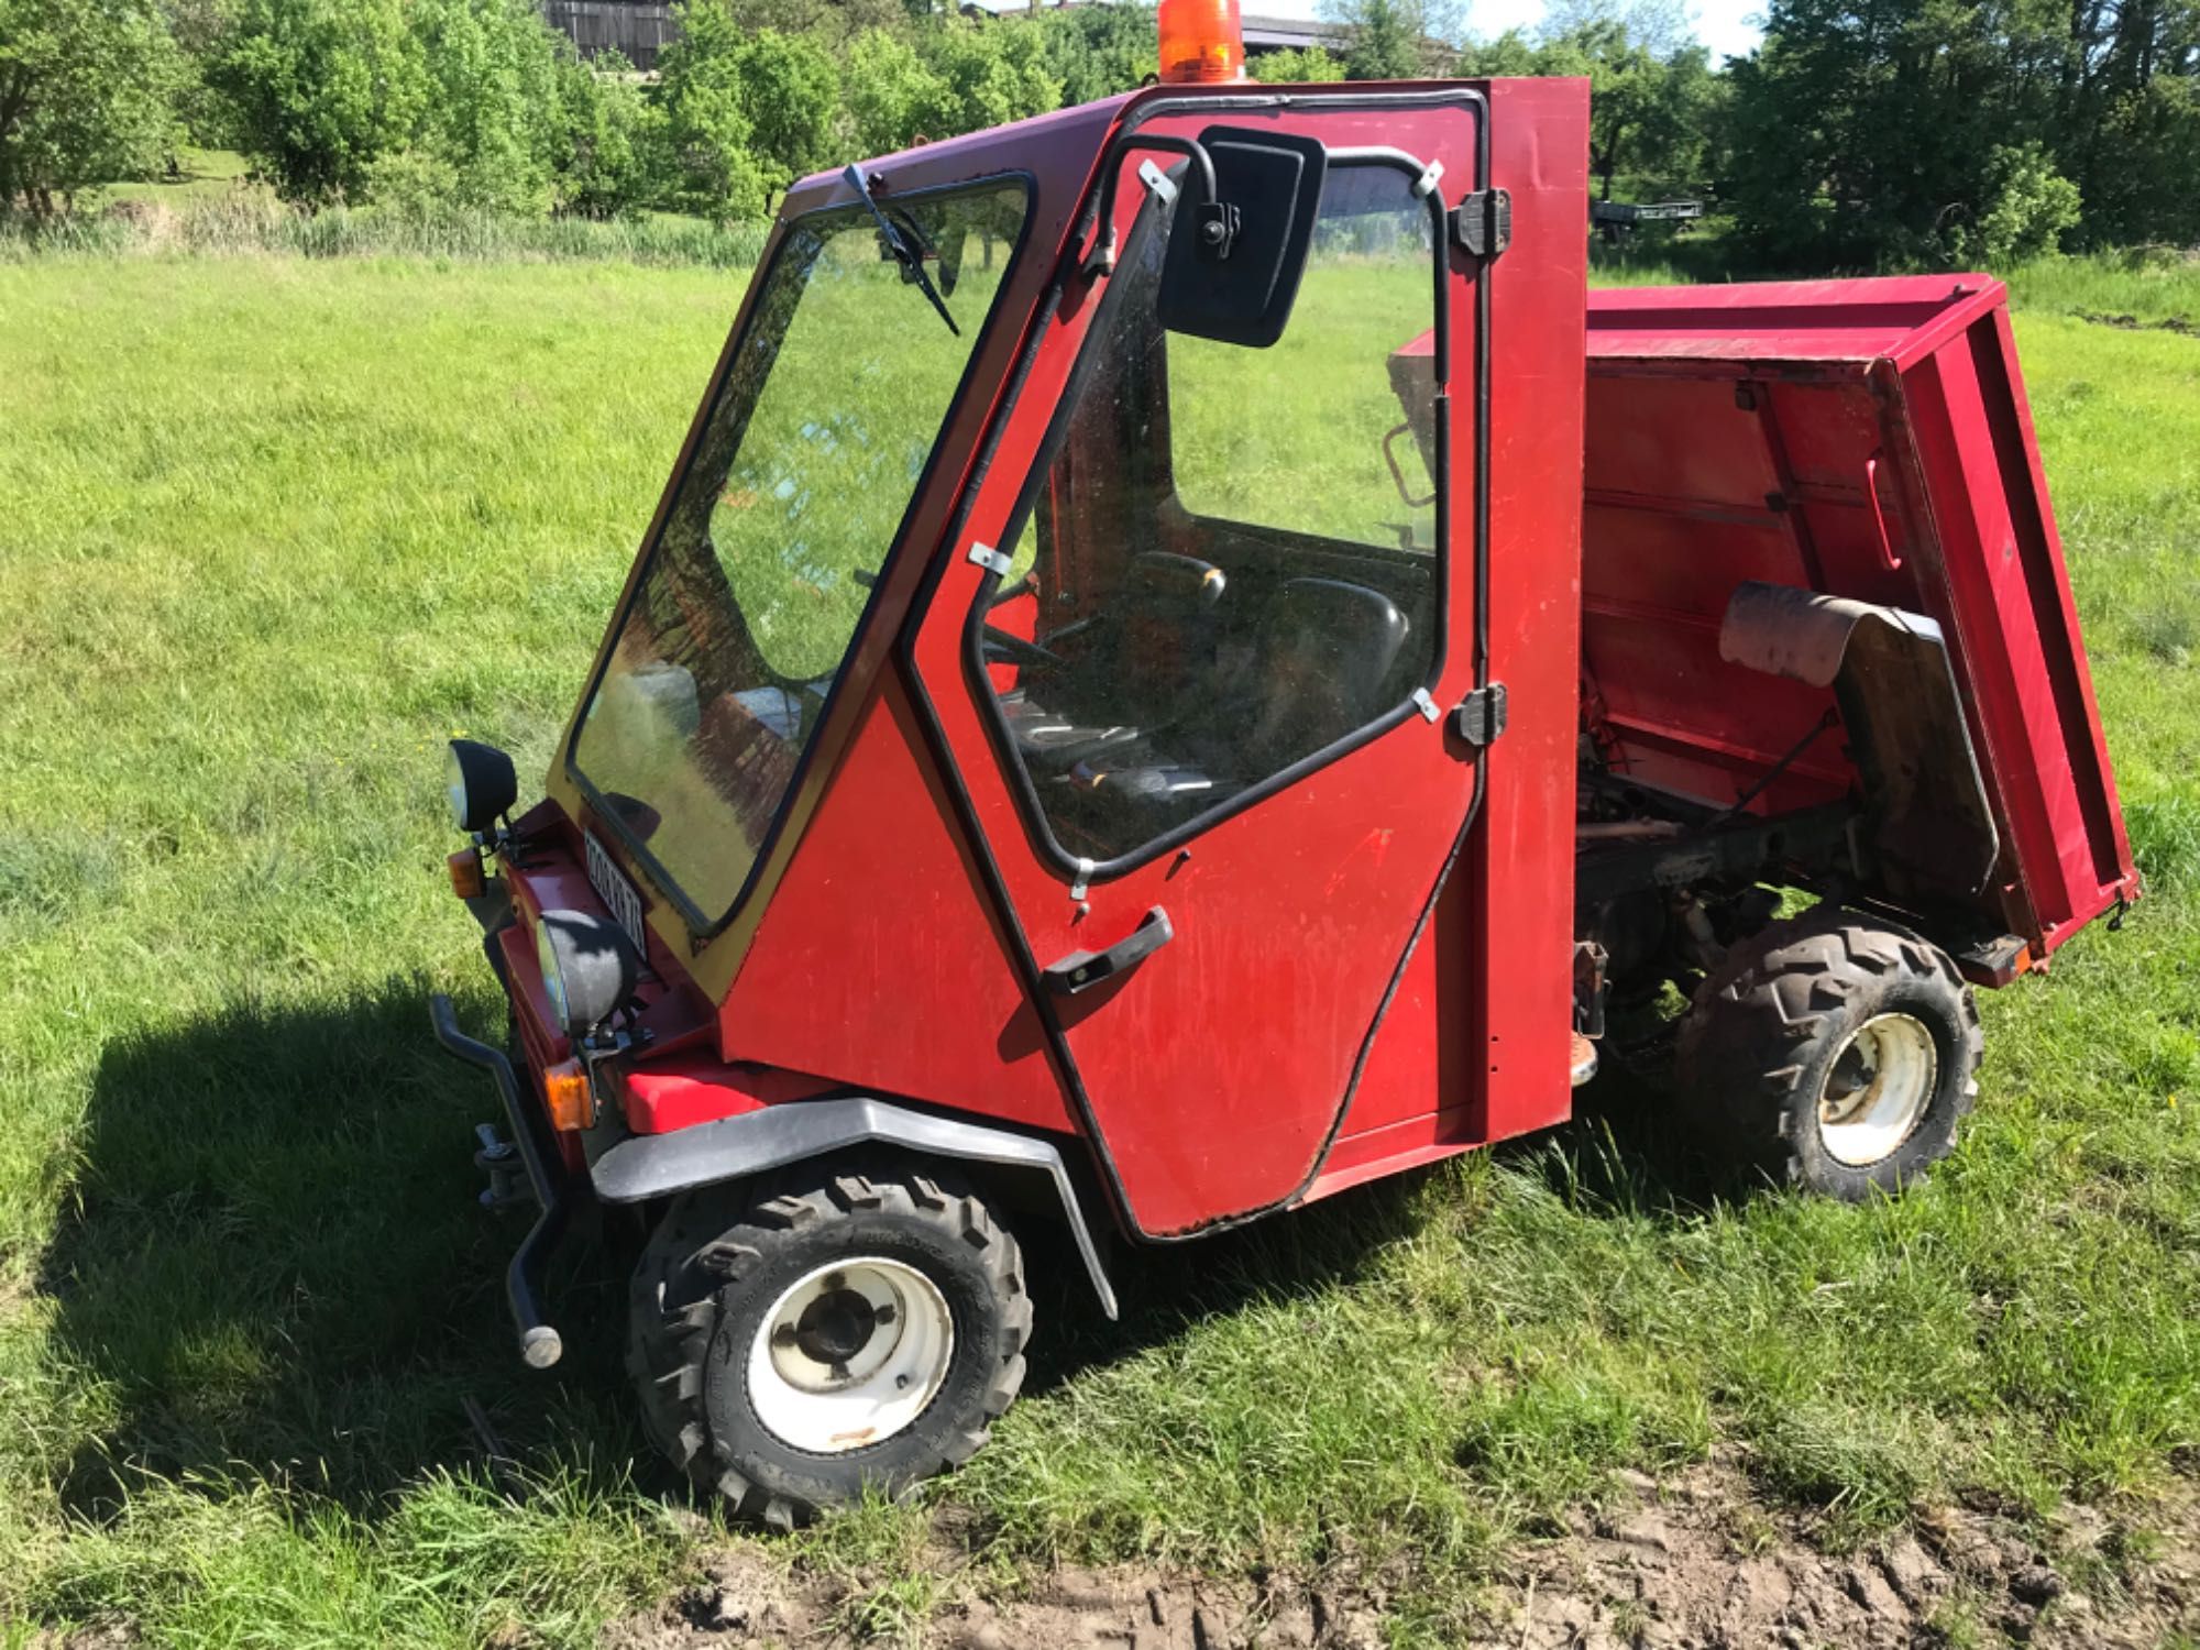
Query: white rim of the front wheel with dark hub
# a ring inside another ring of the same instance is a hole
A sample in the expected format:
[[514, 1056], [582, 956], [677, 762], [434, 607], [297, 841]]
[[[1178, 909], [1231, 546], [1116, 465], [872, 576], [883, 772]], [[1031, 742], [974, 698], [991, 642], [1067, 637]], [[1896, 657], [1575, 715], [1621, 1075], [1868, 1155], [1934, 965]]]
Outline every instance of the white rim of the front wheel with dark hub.
[[807, 1454], [884, 1443], [939, 1395], [955, 1318], [902, 1261], [821, 1265], [785, 1289], [748, 1349], [748, 1401], [763, 1430]]

